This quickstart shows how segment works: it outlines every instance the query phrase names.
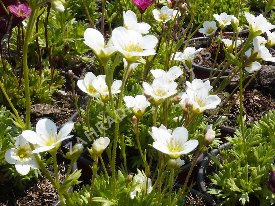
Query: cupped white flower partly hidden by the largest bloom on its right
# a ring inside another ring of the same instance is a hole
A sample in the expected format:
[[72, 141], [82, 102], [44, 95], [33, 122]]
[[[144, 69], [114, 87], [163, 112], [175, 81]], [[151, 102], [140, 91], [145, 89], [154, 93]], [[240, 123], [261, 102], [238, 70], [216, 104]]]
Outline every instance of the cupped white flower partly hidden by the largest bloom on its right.
[[84, 40], [84, 44], [89, 46], [102, 61], [107, 61], [117, 51], [111, 40], [105, 45], [104, 37], [96, 29], [86, 29]]

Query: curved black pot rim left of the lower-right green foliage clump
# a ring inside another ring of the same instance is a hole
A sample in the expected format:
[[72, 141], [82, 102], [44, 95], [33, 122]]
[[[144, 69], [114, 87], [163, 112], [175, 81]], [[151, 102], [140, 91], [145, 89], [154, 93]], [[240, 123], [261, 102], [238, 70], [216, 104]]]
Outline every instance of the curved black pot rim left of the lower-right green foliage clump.
[[[222, 145], [220, 145], [218, 147], [218, 149], [214, 149], [210, 152], [210, 154], [218, 154], [221, 150], [223, 150], [224, 148], [226, 148], [227, 146], [229, 146], [230, 143], [224, 143]], [[207, 167], [208, 163], [210, 161], [210, 156], [207, 155], [206, 157], [204, 157], [203, 161], [200, 164], [199, 170], [198, 170], [198, 174], [197, 174], [197, 185], [198, 185], [198, 190], [199, 192], [201, 192], [202, 194], [204, 194], [203, 198], [204, 201], [207, 203], [207, 206], [215, 206], [217, 205], [217, 203], [213, 200], [213, 198], [211, 197], [211, 195], [209, 193], [207, 193], [207, 188], [205, 186], [205, 168]]]

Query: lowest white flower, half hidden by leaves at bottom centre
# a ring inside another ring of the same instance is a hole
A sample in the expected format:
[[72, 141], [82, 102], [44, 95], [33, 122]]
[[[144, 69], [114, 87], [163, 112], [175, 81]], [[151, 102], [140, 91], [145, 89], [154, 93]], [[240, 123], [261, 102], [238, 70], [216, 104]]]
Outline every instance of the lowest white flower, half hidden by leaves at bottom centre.
[[[137, 170], [138, 170], [138, 174], [133, 177], [132, 182], [133, 182], [133, 185], [138, 183], [139, 184], [135, 186], [134, 191], [130, 193], [131, 199], [134, 199], [137, 196], [137, 193], [142, 193], [142, 192], [145, 192], [146, 190], [147, 177], [143, 171], [141, 172], [139, 169]], [[151, 179], [149, 178], [148, 185], [147, 185], [147, 193], [151, 193], [152, 190], [153, 190], [152, 182], [151, 182]]]

